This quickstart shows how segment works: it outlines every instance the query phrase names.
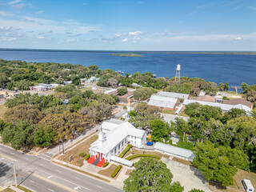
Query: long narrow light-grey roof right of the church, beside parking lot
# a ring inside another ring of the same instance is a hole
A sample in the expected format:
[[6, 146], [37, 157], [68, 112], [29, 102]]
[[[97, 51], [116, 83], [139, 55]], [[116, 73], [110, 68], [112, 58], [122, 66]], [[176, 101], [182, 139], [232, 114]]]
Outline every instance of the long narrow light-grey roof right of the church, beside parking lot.
[[178, 146], [171, 146], [162, 142], [156, 142], [154, 145], [154, 149], [164, 151], [168, 154], [174, 154], [182, 158], [187, 158], [190, 161], [192, 161], [194, 158], [194, 154], [191, 150], [185, 150]]

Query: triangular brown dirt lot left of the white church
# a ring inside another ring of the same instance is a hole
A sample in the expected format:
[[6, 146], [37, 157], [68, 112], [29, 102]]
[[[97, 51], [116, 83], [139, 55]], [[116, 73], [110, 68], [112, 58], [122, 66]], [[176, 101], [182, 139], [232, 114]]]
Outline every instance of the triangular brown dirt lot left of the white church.
[[[68, 162], [74, 166], [82, 166], [83, 165], [83, 157], [79, 157], [78, 154], [85, 153], [89, 154], [90, 144], [95, 142], [98, 139], [98, 134], [93, 135], [88, 138], [86, 141], [81, 142], [78, 146], [75, 146], [72, 150], [66, 152], [66, 154], [61, 155], [58, 160], [63, 162]], [[69, 157], [73, 154], [73, 160], [70, 162]]]

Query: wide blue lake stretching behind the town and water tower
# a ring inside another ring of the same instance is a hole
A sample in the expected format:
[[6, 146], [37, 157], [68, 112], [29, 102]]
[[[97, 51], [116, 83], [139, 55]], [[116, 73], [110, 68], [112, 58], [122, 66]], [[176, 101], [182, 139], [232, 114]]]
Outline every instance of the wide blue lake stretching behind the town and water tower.
[[100, 69], [122, 70], [134, 74], [149, 71], [157, 77], [175, 76], [177, 64], [181, 64], [181, 76], [198, 77], [211, 82], [230, 82], [240, 86], [242, 82], [256, 84], [256, 55], [239, 54], [166, 54], [140, 53], [142, 58], [123, 58], [109, 55], [107, 51], [37, 51], [0, 50], [0, 58], [26, 62], [60, 62], [97, 65]]

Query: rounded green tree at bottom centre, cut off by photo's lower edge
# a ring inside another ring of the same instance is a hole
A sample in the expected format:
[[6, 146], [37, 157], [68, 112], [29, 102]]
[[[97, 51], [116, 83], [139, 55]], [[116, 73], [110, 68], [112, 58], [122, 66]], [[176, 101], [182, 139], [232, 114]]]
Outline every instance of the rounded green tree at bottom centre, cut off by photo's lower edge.
[[[173, 174], [166, 164], [153, 158], [142, 158], [134, 164], [135, 169], [126, 178], [123, 190], [134, 191], [172, 191]], [[176, 185], [176, 184], [175, 184]]]

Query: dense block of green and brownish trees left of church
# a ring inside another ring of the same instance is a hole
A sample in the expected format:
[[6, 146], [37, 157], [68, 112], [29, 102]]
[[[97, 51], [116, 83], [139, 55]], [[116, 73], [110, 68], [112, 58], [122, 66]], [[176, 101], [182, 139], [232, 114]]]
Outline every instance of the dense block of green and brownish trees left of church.
[[72, 85], [58, 87], [54, 95], [19, 94], [5, 103], [2, 141], [15, 150], [65, 141], [110, 117], [115, 104], [114, 96], [82, 92]]

